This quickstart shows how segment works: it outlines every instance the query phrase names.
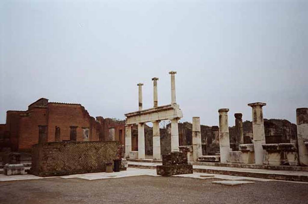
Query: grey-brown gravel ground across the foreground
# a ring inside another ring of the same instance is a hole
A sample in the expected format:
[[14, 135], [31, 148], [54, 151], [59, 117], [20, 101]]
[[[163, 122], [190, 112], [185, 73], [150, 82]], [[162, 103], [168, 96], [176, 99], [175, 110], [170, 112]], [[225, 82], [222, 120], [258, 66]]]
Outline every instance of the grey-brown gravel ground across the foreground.
[[124, 177], [88, 181], [48, 178], [0, 183], [0, 203], [307, 203], [308, 184], [212, 184], [219, 179]]

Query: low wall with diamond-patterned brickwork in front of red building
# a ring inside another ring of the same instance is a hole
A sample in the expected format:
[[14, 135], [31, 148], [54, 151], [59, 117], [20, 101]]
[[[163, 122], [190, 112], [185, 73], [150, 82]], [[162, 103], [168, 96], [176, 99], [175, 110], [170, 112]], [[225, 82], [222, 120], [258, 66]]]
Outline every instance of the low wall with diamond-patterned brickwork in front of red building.
[[106, 163], [121, 157], [119, 141], [46, 142], [32, 146], [30, 173], [56, 176], [103, 172]]

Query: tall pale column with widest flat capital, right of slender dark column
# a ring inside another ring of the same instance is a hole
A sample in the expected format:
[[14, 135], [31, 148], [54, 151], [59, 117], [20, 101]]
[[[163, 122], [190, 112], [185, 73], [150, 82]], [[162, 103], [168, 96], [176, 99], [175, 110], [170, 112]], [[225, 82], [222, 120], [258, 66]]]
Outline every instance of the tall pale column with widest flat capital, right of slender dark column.
[[248, 104], [248, 106], [252, 107], [252, 130], [255, 164], [263, 164], [263, 158], [265, 154], [265, 150], [262, 147], [262, 145], [265, 144], [262, 106], [265, 105], [265, 103], [259, 102]]

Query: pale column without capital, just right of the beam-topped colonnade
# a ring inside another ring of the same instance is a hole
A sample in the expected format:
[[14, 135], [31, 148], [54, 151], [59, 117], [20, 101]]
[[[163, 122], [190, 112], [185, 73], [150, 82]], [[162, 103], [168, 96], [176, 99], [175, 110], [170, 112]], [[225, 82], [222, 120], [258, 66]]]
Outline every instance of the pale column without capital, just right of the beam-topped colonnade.
[[193, 117], [193, 160], [202, 156], [200, 117]]

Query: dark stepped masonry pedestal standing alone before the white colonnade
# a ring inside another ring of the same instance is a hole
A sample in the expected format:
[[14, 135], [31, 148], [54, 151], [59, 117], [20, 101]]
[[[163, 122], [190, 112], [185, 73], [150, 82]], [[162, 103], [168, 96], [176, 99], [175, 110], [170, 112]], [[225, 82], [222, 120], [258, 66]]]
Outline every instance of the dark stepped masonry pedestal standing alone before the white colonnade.
[[193, 173], [193, 165], [187, 162], [187, 153], [171, 152], [162, 157], [163, 165], [156, 166], [157, 175], [172, 176]]

